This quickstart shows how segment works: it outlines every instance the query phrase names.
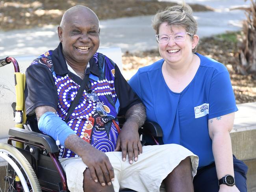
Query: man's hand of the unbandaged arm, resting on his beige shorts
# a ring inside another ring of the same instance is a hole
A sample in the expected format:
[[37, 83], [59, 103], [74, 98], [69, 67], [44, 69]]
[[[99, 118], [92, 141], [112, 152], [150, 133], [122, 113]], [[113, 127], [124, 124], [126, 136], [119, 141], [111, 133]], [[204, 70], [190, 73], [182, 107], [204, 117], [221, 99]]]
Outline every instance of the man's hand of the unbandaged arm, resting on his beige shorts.
[[142, 153], [142, 145], [139, 139], [138, 125], [135, 122], [126, 122], [121, 129], [119, 137], [117, 138], [117, 145], [115, 151], [122, 149], [122, 160], [128, 159], [130, 164], [138, 160], [138, 155]]

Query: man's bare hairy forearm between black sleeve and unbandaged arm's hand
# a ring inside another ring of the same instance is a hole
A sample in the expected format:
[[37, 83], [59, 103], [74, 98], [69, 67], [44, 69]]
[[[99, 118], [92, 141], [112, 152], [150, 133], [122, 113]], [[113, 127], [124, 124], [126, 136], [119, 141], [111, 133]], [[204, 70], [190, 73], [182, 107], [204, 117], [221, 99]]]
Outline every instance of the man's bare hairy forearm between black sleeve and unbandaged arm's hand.
[[134, 120], [141, 127], [146, 120], [146, 109], [143, 103], [138, 103], [130, 107], [125, 114], [125, 119]]

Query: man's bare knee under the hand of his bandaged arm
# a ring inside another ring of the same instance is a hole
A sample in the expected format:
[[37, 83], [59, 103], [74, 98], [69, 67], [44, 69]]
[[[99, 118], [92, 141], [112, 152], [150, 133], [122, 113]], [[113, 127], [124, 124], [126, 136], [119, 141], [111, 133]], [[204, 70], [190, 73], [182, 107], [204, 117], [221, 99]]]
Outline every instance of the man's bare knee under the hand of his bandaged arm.
[[95, 183], [88, 168], [83, 172], [83, 192], [114, 192], [113, 185], [102, 186], [100, 182]]

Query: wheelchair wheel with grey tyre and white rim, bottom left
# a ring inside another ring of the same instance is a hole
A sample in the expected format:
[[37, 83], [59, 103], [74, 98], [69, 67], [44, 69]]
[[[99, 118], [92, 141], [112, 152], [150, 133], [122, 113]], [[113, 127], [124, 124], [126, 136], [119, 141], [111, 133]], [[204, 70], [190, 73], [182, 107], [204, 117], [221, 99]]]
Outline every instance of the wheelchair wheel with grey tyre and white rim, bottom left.
[[32, 166], [15, 147], [0, 143], [0, 163], [0, 192], [41, 192]]

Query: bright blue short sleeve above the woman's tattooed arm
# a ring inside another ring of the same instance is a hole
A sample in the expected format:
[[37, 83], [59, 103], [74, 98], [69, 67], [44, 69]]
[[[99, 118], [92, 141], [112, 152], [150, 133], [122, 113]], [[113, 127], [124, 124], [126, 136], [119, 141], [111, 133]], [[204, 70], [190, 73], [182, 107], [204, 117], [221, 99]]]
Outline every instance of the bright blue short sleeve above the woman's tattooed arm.
[[209, 119], [236, 112], [236, 99], [228, 70], [218, 72], [211, 79]]

